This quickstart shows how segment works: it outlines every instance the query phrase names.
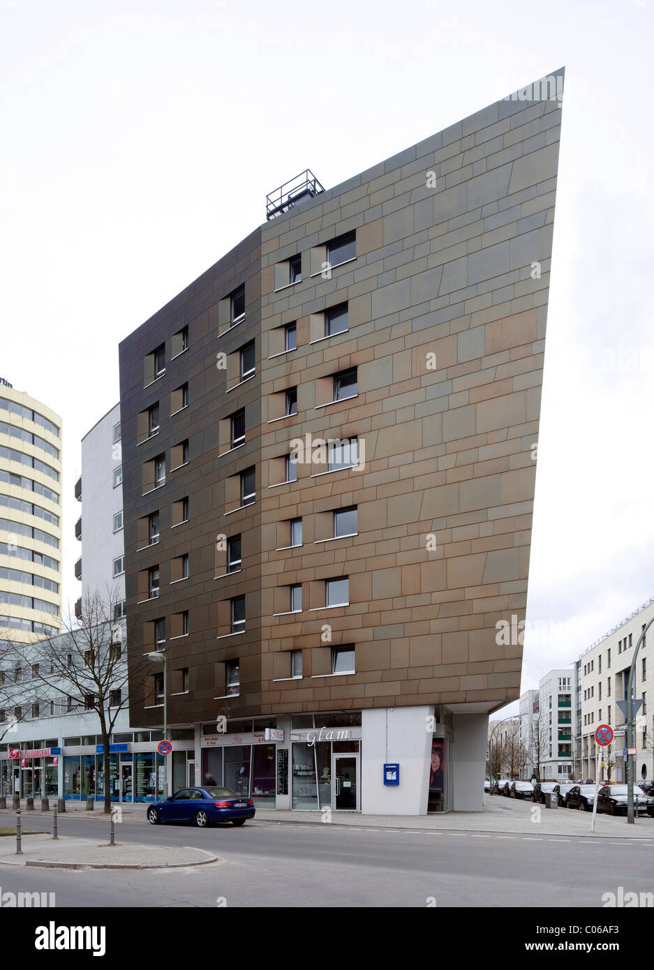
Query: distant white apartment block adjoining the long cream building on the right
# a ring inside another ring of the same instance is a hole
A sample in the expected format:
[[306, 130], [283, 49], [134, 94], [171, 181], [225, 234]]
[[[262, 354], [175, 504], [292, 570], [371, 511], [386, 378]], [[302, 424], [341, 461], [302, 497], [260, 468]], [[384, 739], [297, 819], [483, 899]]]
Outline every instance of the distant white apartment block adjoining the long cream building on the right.
[[576, 734], [575, 667], [550, 670], [540, 680], [540, 777], [568, 781], [573, 777], [572, 739]]

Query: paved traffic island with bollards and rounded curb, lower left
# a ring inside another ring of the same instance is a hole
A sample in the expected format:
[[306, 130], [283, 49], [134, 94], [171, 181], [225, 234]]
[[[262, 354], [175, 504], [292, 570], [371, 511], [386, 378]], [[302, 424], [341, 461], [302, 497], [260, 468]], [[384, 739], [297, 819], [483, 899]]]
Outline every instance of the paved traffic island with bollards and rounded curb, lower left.
[[[4, 814], [4, 813], [3, 813]], [[21, 813], [22, 814], [22, 813]], [[30, 813], [31, 814], [31, 813]], [[45, 814], [45, 813], [44, 813]], [[220, 861], [204, 849], [189, 846], [149, 846], [116, 841], [114, 846], [95, 839], [49, 835], [23, 835], [22, 856], [16, 856], [16, 838], [0, 838], [0, 867], [29, 865], [48, 869], [172, 869]]]

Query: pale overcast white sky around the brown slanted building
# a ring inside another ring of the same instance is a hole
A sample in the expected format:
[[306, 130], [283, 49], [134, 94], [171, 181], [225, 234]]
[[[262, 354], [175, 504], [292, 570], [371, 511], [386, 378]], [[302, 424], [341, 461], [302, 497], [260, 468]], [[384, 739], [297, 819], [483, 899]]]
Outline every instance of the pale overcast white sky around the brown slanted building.
[[654, 595], [653, 8], [0, 0], [0, 376], [63, 417], [65, 600], [118, 341], [282, 181], [329, 188], [563, 65], [522, 690]]

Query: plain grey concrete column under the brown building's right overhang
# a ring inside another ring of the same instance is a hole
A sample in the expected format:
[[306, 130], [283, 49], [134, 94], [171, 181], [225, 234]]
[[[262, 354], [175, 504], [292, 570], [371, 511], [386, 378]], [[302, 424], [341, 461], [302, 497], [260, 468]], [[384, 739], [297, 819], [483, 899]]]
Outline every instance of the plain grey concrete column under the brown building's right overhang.
[[452, 798], [455, 812], [480, 812], [486, 769], [488, 714], [452, 716]]

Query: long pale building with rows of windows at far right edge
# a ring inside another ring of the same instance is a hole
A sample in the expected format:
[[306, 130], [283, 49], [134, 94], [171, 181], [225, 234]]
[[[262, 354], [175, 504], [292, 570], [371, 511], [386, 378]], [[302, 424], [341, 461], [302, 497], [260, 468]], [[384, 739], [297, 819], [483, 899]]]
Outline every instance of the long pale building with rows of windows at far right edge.
[[[605, 633], [579, 658], [581, 673], [581, 770], [584, 778], [596, 778], [597, 745], [595, 731], [608, 724], [615, 738], [605, 750], [605, 761], [611, 761], [611, 781], [627, 781], [626, 717], [617, 701], [627, 697], [629, 669], [643, 628], [654, 615], [654, 598], [648, 599], [625, 620]], [[638, 651], [635, 696], [642, 701], [636, 716], [636, 778], [654, 777], [654, 724], [648, 709], [648, 698], [654, 691], [652, 664], [649, 661], [647, 636]], [[651, 699], [650, 699], [651, 702]], [[644, 774], [643, 774], [644, 771]], [[602, 772], [607, 778], [607, 765]]]

